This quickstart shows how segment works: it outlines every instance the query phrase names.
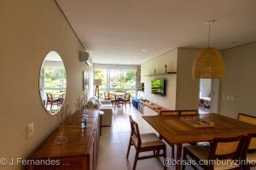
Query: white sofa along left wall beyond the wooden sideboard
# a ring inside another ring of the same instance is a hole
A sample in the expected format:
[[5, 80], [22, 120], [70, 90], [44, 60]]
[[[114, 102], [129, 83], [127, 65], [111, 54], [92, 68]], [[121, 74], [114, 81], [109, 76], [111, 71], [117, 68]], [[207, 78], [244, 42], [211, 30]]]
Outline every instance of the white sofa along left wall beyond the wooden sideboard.
[[102, 126], [110, 127], [112, 126], [112, 115], [113, 115], [113, 105], [109, 100], [99, 100], [95, 97], [91, 97], [84, 105], [87, 109], [99, 109], [104, 112], [102, 115]]

